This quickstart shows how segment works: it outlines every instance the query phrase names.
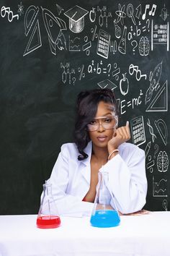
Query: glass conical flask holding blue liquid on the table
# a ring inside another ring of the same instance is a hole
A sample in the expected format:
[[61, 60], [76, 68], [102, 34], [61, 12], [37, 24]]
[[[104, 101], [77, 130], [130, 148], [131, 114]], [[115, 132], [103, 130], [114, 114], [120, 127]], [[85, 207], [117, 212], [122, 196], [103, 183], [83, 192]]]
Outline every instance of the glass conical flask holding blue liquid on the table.
[[115, 208], [112, 192], [109, 192], [108, 177], [107, 172], [99, 171], [97, 194], [90, 218], [91, 226], [108, 228], [120, 224], [120, 216]]

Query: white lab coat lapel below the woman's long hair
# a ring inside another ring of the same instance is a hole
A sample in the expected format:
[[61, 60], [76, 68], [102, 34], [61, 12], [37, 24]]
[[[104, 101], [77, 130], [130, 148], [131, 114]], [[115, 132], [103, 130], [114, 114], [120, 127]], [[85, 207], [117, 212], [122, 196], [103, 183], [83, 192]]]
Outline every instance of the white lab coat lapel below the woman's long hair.
[[80, 168], [81, 168], [81, 175], [84, 176], [84, 179], [86, 179], [86, 182], [90, 184], [90, 178], [91, 178], [91, 166], [90, 166], [90, 159], [91, 159], [91, 149], [92, 149], [92, 143], [89, 142], [86, 146], [84, 152], [86, 152], [88, 158], [81, 161]]

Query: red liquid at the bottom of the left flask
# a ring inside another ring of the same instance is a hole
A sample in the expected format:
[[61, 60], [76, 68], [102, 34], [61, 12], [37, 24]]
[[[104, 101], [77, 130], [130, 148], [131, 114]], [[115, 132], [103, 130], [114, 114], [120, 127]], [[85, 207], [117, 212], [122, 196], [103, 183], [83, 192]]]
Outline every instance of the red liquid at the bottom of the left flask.
[[40, 229], [55, 229], [61, 225], [61, 219], [58, 216], [40, 216], [37, 218], [37, 227]]

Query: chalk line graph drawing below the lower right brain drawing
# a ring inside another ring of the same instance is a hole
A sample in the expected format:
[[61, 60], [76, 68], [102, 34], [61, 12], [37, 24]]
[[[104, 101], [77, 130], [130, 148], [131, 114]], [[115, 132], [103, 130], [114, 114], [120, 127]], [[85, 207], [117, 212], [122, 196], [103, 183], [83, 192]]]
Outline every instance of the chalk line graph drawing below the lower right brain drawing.
[[153, 176], [153, 197], [167, 197], [166, 182], [167, 179], [161, 179], [159, 182], [155, 182]]

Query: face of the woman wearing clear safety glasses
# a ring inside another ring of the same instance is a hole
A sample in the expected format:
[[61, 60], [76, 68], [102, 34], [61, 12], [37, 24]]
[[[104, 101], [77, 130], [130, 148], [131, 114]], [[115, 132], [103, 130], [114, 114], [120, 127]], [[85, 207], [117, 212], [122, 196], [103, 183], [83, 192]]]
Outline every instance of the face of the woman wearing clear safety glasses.
[[91, 120], [91, 123], [89, 124], [89, 129], [94, 126], [98, 128], [93, 131], [89, 130], [89, 137], [93, 142], [93, 145], [99, 148], [107, 147], [107, 143], [109, 142], [109, 140], [112, 139], [112, 136], [115, 132], [114, 128], [108, 129], [108, 127], [110, 127], [110, 122], [112, 122], [110, 118], [112, 118], [112, 116], [114, 115], [115, 113], [113, 111], [112, 104], [105, 103], [104, 101], [99, 102], [99, 105], [97, 107], [97, 114], [94, 120]]

